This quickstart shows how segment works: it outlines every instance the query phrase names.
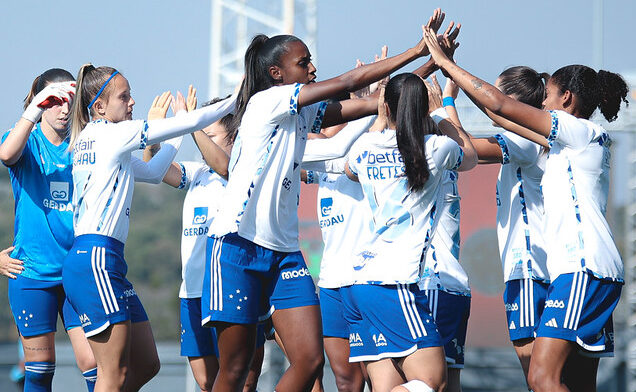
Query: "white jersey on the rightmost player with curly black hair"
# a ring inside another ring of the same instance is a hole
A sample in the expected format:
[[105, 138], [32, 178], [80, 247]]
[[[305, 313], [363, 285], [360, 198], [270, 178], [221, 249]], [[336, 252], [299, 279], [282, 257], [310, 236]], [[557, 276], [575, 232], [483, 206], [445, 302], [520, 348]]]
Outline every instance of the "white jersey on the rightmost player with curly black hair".
[[597, 124], [552, 111], [550, 153], [541, 182], [551, 280], [588, 271], [623, 281], [623, 263], [605, 220], [611, 139]]

